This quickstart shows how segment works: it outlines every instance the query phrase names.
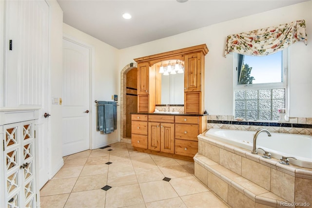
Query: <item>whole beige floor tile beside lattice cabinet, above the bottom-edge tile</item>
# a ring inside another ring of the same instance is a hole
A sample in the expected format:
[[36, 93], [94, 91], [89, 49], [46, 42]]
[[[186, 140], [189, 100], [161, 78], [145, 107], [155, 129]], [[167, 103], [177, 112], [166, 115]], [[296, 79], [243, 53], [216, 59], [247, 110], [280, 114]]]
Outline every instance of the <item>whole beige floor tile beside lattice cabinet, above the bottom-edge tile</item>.
[[78, 178], [65, 178], [48, 181], [42, 189], [40, 189], [40, 196], [49, 196], [62, 193], [70, 193], [75, 186]]

